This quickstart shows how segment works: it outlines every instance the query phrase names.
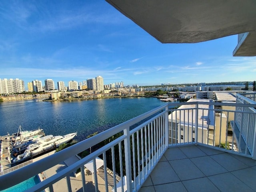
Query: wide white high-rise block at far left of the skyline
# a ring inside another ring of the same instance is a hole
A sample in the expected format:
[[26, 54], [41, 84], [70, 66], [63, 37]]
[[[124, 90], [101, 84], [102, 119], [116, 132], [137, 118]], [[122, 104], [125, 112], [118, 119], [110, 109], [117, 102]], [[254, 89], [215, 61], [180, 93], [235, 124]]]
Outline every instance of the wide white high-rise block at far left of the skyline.
[[0, 94], [21, 93], [25, 91], [24, 81], [20, 79], [0, 79]]

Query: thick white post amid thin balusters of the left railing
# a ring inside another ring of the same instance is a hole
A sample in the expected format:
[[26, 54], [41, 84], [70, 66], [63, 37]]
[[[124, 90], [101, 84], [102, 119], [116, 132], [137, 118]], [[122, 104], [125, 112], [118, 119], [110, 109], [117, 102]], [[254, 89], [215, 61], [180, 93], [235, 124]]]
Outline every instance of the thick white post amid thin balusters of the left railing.
[[124, 159], [126, 172], [127, 191], [132, 191], [132, 162], [131, 162], [131, 146], [130, 146], [130, 127], [124, 129]]

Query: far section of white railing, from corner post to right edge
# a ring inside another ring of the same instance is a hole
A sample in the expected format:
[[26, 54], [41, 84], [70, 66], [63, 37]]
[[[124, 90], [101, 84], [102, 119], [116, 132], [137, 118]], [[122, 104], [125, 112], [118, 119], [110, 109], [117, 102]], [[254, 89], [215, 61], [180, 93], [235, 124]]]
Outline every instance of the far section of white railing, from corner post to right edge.
[[[256, 104], [205, 104], [187, 102], [182, 103], [182, 107], [171, 110], [169, 145], [200, 144], [255, 159]], [[230, 108], [232, 106], [233, 108]], [[229, 131], [230, 127], [232, 132]]]

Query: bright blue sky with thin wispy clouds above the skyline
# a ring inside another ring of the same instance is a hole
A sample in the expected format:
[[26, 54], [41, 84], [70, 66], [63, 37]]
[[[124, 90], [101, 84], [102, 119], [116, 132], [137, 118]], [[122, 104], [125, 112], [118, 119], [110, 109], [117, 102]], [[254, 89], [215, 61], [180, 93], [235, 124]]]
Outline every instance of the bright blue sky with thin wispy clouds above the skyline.
[[256, 80], [255, 57], [233, 57], [237, 35], [162, 44], [104, 0], [0, 1], [0, 78], [55, 84]]

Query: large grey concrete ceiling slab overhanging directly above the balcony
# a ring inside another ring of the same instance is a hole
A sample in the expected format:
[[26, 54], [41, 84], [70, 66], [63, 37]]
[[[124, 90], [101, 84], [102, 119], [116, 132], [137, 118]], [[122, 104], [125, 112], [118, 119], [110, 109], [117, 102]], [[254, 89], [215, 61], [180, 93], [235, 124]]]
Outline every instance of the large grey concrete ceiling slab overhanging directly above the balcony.
[[106, 0], [162, 43], [256, 30], [256, 0]]

